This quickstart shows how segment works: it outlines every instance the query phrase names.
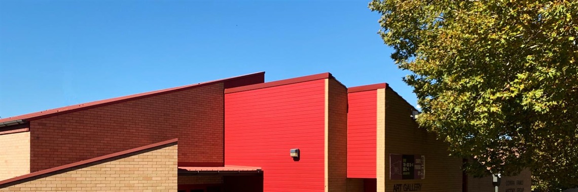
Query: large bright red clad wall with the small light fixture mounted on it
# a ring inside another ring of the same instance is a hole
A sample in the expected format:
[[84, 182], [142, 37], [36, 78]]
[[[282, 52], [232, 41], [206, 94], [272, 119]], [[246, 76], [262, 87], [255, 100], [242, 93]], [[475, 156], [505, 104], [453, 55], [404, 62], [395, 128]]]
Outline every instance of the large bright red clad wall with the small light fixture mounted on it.
[[225, 130], [225, 164], [262, 167], [264, 191], [324, 191], [324, 79], [225, 94]]

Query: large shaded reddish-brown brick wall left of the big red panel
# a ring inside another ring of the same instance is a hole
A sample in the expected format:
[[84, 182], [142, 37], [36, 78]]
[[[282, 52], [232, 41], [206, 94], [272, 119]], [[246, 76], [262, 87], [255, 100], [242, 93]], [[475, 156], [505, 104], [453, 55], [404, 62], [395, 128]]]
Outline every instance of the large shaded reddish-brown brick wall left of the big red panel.
[[223, 165], [223, 91], [211, 84], [31, 121], [31, 171], [172, 138], [179, 163]]

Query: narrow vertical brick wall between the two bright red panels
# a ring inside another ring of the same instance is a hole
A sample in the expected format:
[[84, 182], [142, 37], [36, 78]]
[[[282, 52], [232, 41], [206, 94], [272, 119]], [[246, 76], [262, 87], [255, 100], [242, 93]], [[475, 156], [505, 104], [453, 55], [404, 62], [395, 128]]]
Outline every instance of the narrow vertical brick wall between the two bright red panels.
[[328, 191], [347, 190], [347, 88], [328, 81]]

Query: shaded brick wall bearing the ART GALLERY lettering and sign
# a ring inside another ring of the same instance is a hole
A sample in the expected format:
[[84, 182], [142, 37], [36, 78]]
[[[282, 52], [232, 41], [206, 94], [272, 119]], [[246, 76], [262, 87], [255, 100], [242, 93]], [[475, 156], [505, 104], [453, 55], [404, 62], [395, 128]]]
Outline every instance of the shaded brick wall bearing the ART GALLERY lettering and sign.
[[[462, 159], [448, 156], [447, 145], [418, 127], [411, 112], [412, 107], [401, 96], [386, 89], [386, 191], [405, 184], [421, 184], [421, 191], [461, 191]], [[391, 180], [390, 153], [425, 155], [425, 179]]]

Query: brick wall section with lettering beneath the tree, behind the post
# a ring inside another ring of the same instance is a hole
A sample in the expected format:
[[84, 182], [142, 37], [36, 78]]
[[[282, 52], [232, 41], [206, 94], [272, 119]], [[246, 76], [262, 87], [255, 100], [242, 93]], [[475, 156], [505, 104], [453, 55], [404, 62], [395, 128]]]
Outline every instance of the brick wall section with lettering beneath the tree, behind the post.
[[[532, 187], [531, 172], [524, 170], [516, 176], [502, 176], [498, 192], [529, 192]], [[494, 191], [492, 177], [473, 178], [468, 176], [468, 192]]]

